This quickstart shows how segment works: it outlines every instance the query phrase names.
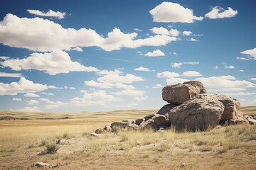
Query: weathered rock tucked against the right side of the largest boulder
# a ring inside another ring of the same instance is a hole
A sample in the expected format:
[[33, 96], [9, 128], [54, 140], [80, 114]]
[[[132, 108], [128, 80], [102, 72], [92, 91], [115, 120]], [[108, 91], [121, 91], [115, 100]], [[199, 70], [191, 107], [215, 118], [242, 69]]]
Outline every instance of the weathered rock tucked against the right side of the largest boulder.
[[235, 100], [234, 98], [231, 98], [230, 96], [220, 94], [215, 94], [215, 97], [218, 98], [218, 101], [223, 103], [225, 107], [221, 120], [238, 119], [242, 116], [242, 112], [239, 112], [239, 101]]

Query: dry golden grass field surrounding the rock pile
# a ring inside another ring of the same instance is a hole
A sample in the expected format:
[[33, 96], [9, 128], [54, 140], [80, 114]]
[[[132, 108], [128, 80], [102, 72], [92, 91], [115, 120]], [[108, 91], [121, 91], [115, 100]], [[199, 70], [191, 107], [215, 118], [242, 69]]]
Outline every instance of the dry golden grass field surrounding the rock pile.
[[[115, 120], [143, 118], [157, 110], [97, 113], [21, 113], [1, 111], [0, 169], [256, 169], [256, 125], [235, 125], [206, 132], [119, 131], [100, 137], [90, 132]], [[256, 107], [243, 107], [244, 115]], [[66, 120], [38, 120], [63, 118]], [[55, 145], [63, 139], [62, 145]], [[59, 147], [46, 154], [46, 146]]]

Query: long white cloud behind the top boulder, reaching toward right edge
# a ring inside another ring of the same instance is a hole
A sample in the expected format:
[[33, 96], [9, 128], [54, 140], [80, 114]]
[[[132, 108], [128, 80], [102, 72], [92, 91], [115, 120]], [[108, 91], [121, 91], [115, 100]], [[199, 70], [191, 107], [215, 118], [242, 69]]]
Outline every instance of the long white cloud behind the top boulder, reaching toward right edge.
[[237, 80], [233, 76], [201, 77], [201, 81], [208, 91], [243, 91], [247, 88], [256, 87], [250, 81]]

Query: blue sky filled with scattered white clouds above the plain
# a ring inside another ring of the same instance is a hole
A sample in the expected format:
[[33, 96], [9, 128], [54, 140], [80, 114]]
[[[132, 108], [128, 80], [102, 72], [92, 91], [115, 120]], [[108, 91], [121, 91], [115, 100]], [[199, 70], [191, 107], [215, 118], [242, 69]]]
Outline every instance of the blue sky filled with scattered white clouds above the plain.
[[203, 82], [256, 105], [256, 1], [18, 1], [0, 7], [0, 110], [161, 108]]

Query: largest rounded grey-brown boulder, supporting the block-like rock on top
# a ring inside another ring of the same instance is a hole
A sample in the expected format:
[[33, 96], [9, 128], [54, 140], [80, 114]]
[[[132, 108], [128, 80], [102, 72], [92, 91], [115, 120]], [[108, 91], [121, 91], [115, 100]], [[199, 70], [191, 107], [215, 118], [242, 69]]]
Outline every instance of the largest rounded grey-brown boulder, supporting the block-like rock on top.
[[206, 130], [215, 127], [223, 115], [223, 103], [213, 94], [199, 94], [169, 111], [169, 120], [176, 130]]

